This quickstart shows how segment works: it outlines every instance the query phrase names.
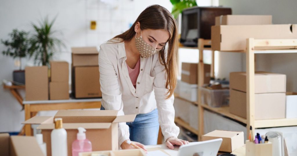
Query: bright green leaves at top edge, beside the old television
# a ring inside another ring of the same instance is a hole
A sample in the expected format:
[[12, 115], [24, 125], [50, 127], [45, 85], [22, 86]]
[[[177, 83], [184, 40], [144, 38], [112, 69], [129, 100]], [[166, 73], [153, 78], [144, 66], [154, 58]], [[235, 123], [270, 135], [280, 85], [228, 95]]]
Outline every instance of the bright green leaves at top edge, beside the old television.
[[171, 14], [175, 19], [178, 18], [178, 15], [188, 7], [197, 6], [195, 0], [170, 0], [171, 4], [173, 5]]

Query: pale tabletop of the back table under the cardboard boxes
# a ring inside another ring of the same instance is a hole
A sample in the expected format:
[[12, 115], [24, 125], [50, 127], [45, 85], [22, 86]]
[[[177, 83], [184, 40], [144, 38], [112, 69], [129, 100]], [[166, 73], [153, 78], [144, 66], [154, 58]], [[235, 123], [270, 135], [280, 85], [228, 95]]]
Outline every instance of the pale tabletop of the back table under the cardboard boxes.
[[46, 103], [75, 103], [75, 102], [97, 102], [101, 101], [102, 98], [96, 99], [68, 99], [68, 100], [38, 100], [38, 101], [23, 101], [23, 104], [46, 104]]

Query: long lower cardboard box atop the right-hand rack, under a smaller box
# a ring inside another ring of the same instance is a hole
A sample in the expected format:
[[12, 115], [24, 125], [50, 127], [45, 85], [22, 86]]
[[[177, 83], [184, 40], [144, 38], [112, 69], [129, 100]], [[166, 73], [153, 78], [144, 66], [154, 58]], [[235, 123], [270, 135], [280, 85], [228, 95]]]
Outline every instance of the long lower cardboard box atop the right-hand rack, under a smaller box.
[[[211, 26], [211, 48], [216, 51], [245, 51], [247, 38], [296, 39], [296, 24]], [[270, 47], [271, 48], [271, 47]]]

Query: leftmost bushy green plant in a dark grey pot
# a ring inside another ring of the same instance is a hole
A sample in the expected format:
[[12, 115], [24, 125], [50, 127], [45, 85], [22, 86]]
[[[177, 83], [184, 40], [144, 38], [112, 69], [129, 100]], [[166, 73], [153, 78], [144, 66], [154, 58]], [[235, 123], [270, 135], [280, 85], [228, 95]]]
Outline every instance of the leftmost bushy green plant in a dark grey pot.
[[19, 59], [20, 69], [13, 71], [13, 81], [25, 84], [25, 70], [22, 70], [22, 58], [26, 57], [29, 49], [28, 32], [13, 29], [9, 36], [10, 40], [1, 39], [1, 43], [7, 47], [2, 53], [3, 55], [13, 57], [13, 59]]

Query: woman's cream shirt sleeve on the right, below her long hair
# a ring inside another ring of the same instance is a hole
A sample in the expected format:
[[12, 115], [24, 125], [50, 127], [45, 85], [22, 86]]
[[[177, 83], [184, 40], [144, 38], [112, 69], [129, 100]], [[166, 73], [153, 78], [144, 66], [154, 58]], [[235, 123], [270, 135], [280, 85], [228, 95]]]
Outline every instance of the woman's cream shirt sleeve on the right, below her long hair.
[[165, 67], [159, 60], [154, 67], [154, 75], [154, 92], [158, 108], [159, 124], [161, 126], [164, 140], [166, 141], [170, 137], [177, 138], [179, 134], [179, 127], [174, 123], [174, 96], [172, 95], [170, 98], [166, 99], [168, 89], [166, 89], [165, 86]]

